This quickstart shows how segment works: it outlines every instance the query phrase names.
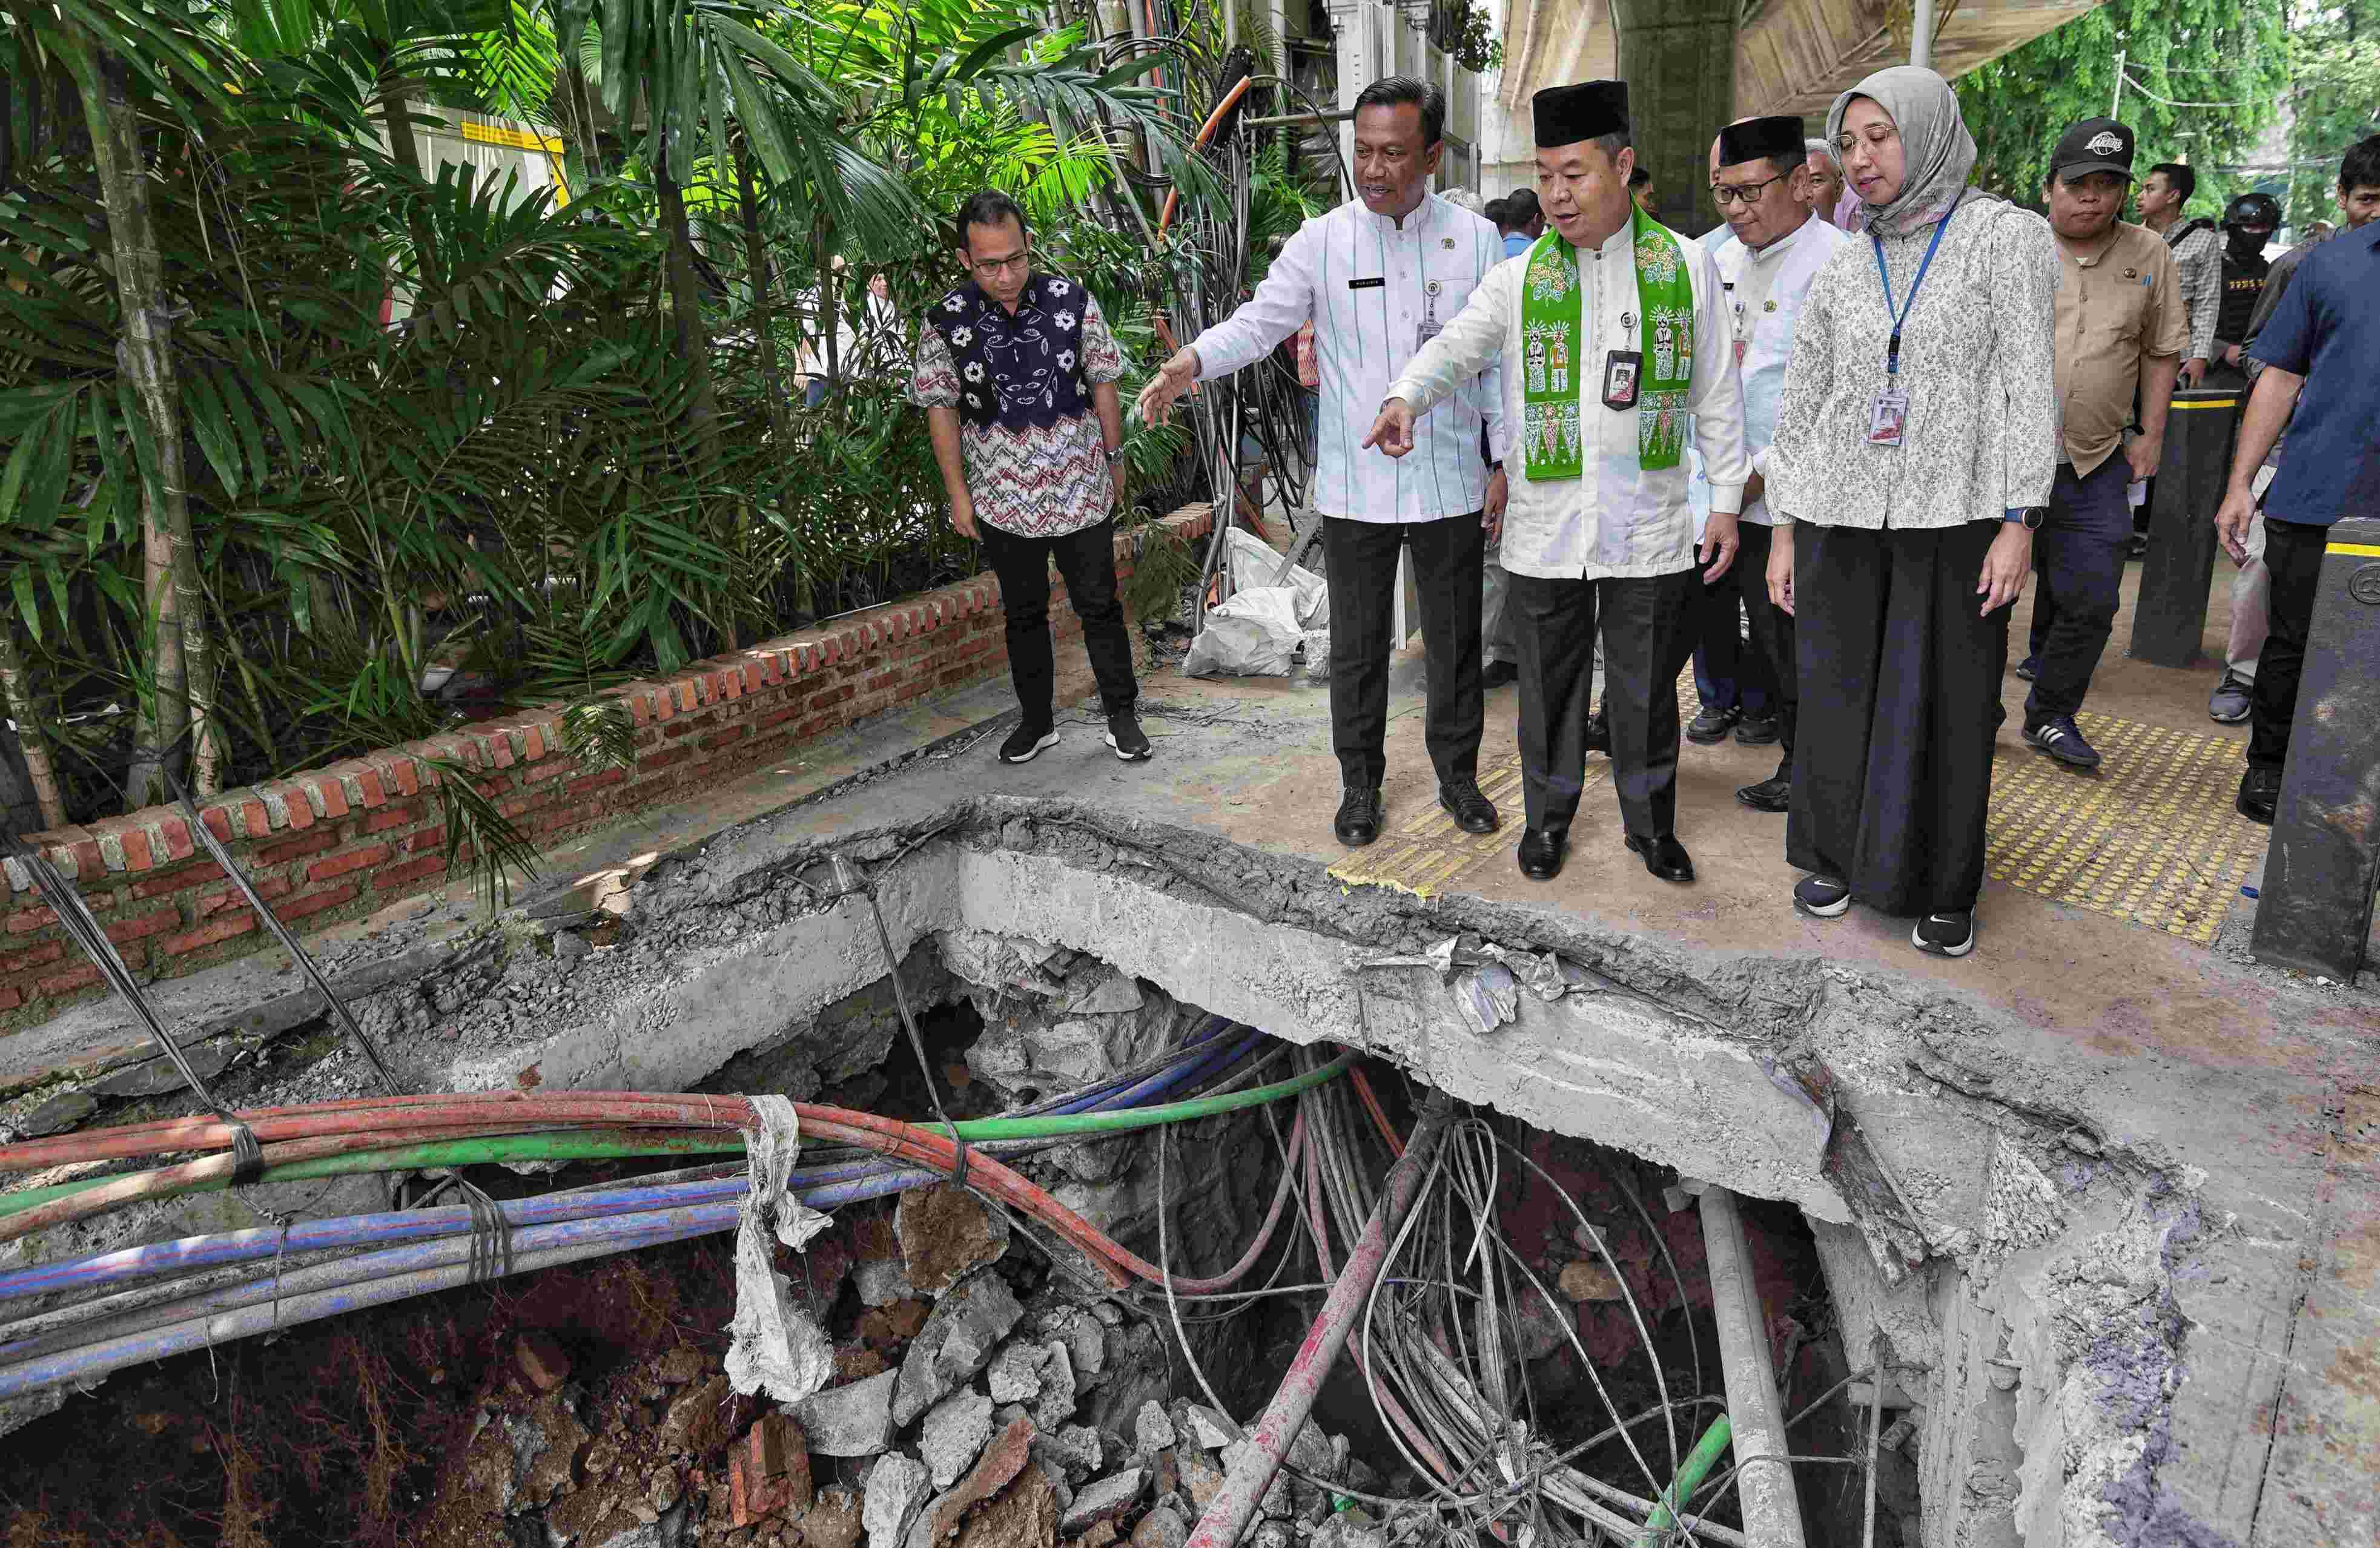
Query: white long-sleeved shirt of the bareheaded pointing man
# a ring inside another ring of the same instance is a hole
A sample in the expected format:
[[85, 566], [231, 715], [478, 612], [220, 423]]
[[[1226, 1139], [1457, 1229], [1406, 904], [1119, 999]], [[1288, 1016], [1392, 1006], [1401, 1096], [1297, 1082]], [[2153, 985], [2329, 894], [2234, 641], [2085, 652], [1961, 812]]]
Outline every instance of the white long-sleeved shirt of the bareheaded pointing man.
[[1457, 383], [1438, 423], [1416, 428], [1411, 454], [1366, 452], [1364, 438], [1423, 326], [1452, 321], [1502, 262], [1504, 238], [1461, 204], [1426, 195], [1399, 228], [1349, 200], [1299, 226], [1257, 295], [1190, 342], [1200, 378], [1261, 361], [1311, 321], [1323, 397], [1311, 506], [1349, 521], [1468, 516], [1488, 502], [1483, 423], [1504, 457], [1495, 361]]

